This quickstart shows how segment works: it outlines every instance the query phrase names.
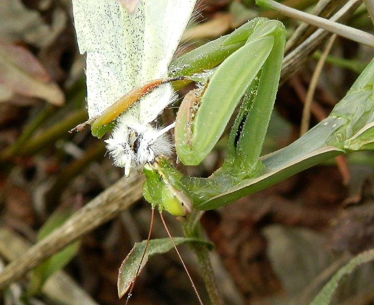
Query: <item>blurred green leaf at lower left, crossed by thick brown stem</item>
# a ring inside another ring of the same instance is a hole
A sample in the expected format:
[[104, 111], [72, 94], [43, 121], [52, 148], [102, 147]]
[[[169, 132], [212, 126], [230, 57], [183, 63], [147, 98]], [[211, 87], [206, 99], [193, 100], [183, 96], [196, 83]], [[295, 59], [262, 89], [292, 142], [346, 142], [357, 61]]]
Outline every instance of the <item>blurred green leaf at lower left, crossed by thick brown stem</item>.
[[[54, 212], [45, 224], [40, 228], [37, 240], [47, 237], [52, 231], [60, 227], [70, 216], [71, 210], [58, 210]], [[26, 297], [39, 294], [46, 280], [56, 271], [63, 269], [76, 255], [80, 241], [72, 242], [63, 250], [43, 261], [35, 267], [31, 274], [31, 279], [25, 292]]]

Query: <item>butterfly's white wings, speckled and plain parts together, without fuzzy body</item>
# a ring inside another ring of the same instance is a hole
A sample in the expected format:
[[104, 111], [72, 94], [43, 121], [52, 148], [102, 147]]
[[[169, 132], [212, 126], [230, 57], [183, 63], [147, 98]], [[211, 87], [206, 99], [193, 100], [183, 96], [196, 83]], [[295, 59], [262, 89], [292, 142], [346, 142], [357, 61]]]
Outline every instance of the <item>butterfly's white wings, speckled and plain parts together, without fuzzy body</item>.
[[[195, 0], [141, 0], [131, 15], [118, 0], [72, 0], [79, 50], [87, 52], [90, 117], [135, 86], [166, 77], [170, 60], [192, 13]], [[171, 87], [158, 88], [131, 107], [149, 122], [168, 105]], [[140, 109], [139, 109], [140, 107]]]

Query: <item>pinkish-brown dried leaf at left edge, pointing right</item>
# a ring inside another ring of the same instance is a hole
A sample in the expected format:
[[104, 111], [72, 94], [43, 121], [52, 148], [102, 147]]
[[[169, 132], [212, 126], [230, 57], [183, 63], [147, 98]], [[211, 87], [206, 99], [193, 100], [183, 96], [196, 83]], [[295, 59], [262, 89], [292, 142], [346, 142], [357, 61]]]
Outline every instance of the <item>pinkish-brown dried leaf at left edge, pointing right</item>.
[[0, 85], [0, 101], [14, 94], [41, 98], [58, 106], [65, 101], [62, 90], [50, 81], [37, 58], [20, 46], [0, 44]]

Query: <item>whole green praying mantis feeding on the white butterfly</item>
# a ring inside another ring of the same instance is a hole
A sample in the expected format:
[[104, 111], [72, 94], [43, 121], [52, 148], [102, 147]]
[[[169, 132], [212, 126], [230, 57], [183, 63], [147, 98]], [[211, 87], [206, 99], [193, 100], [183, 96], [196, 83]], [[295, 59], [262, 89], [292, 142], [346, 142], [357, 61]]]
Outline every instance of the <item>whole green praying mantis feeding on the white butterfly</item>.
[[176, 119], [175, 146], [183, 164], [204, 160], [241, 105], [224, 163], [209, 178], [184, 175], [162, 157], [146, 164], [143, 194], [153, 208], [174, 216], [185, 216], [193, 208], [214, 209], [324, 160], [374, 148], [371, 62], [330, 116], [291, 145], [260, 158], [284, 44], [281, 22], [255, 18], [171, 63], [169, 79], [174, 88], [199, 83], [186, 95]]

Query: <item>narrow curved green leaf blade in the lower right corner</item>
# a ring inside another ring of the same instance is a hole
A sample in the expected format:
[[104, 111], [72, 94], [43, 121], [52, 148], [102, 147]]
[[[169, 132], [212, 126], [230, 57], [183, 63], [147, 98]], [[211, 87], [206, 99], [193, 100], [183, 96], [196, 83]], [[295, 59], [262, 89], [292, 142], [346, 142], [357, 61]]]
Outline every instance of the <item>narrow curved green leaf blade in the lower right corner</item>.
[[347, 265], [341, 267], [331, 280], [322, 288], [317, 296], [311, 301], [310, 305], [328, 305], [337, 289], [340, 280], [349, 275], [358, 266], [374, 260], [374, 249], [368, 250], [355, 256]]

